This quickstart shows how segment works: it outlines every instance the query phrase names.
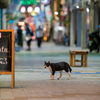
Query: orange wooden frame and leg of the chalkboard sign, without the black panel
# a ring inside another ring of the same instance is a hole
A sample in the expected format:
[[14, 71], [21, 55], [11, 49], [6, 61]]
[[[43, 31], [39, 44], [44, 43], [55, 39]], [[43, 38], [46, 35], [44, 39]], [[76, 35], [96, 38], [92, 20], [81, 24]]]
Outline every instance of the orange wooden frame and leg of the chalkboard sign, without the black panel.
[[[3, 32], [10, 32], [11, 33], [11, 71], [0, 71], [0, 75], [12, 75], [12, 82], [11, 82], [11, 88], [14, 88], [14, 30], [0, 30], [0, 33], [3, 34]], [[1, 36], [2, 38], [2, 36]]]

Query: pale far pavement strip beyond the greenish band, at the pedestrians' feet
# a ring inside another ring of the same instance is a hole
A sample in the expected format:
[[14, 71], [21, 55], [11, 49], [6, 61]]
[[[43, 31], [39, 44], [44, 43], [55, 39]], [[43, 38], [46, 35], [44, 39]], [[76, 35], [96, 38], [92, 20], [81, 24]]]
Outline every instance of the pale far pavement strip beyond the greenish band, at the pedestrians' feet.
[[[26, 45], [26, 42], [24, 42], [23, 49], [19, 53], [26, 53], [26, 49], [27, 49], [27, 45]], [[29, 52], [30, 53], [50, 53], [50, 52], [54, 52], [54, 53], [67, 52], [67, 53], [69, 53], [69, 50], [88, 50], [89, 51], [89, 49], [82, 49], [81, 47], [56, 45], [54, 42], [43, 42], [41, 45], [41, 48], [38, 48], [36, 41], [32, 41], [31, 51], [29, 51]]]

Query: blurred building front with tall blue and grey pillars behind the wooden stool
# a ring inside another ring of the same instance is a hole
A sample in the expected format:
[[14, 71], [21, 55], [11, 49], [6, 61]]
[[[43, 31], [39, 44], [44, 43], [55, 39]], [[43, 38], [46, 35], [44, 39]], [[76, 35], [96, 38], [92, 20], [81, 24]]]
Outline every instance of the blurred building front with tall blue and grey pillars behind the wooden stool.
[[67, 5], [67, 16], [70, 16], [70, 46], [87, 48], [88, 34], [100, 27], [100, 1], [67, 0]]

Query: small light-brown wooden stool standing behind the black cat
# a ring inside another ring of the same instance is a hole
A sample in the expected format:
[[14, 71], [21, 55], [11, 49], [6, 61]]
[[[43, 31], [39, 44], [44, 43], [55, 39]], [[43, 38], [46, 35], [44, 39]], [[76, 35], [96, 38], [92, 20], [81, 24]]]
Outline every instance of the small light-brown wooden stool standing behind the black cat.
[[[87, 67], [87, 54], [86, 50], [69, 50], [70, 52], [70, 65], [75, 66], [75, 62], [81, 62], [81, 66]], [[81, 60], [75, 60], [75, 55], [81, 55]]]

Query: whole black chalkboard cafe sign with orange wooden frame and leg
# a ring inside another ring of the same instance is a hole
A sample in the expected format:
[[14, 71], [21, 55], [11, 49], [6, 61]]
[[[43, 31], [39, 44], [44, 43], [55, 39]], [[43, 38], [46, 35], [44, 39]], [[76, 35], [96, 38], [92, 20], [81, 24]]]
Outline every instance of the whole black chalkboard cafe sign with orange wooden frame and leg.
[[0, 75], [12, 75], [14, 88], [14, 30], [0, 30]]

